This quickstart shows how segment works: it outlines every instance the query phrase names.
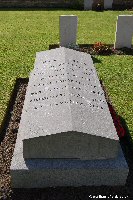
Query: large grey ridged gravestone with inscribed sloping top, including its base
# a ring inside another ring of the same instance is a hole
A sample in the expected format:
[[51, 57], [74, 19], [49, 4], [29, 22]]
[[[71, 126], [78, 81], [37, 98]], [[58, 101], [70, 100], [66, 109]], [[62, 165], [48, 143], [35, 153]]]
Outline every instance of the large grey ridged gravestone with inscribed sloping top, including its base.
[[12, 187], [124, 185], [128, 165], [89, 54], [36, 54], [14, 155]]

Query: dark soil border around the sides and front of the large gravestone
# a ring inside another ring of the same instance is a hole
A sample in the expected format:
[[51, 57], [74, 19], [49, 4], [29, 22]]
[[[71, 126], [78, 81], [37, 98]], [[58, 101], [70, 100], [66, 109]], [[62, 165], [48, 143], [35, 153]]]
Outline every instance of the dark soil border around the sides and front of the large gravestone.
[[[123, 118], [121, 124], [125, 135], [120, 138], [120, 144], [129, 166], [129, 174], [125, 186], [83, 186], [83, 187], [56, 187], [44, 189], [13, 189], [11, 188], [10, 164], [13, 156], [18, 127], [21, 119], [23, 103], [28, 85], [28, 78], [17, 79], [11, 95], [7, 112], [1, 126], [0, 133], [0, 199], [14, 200], [88, 200], [93, 195], [115, 195], [129, 199], [133, 197], [133, 143], [128, 127]], [[108, 106], [113, 106], [103, 82], [101, 85], [105, 92]], [[115, 111], [115, 108], [113, 107]], [[111, 114], [112, 115], [112, 114]], [[116, 114], [117, 116], [117, 114]], [[112, 118], [116, 117], [112, 115]], [[118, 126], [118, 123], [117, 123]], [[117, 127], [118, 128], [118, 127]], [[128, 197], [128, 198], [127, 198]]]

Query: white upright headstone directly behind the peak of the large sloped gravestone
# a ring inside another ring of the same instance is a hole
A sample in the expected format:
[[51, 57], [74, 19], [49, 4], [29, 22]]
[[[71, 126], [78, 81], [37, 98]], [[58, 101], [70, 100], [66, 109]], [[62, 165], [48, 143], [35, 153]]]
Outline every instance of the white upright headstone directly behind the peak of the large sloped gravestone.
[[60, 16], [60, 46], [76, 45], [78, 17], [75, 15]]

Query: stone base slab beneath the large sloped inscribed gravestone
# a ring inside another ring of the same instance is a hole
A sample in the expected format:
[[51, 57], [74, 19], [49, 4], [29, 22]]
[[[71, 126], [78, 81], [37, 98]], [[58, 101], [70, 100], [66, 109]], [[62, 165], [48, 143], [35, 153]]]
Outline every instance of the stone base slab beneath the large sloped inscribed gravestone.
[[121, 147], [116, 158], [107, 160], [24, 160], [21, 135], [18, 142], [20, 148], [19, 151], [15, 149], [10, 167], [12, 188], [119, 186], [126, 183], [129, 169]]

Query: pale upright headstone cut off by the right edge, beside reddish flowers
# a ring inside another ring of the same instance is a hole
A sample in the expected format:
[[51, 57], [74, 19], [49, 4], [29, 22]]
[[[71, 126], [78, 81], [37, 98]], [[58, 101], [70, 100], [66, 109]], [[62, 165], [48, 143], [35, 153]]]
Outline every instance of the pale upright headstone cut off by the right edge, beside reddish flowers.
[[133, 36], [133, 15], [119, 15], [116, 25], [114, 48], [131, 48]]

